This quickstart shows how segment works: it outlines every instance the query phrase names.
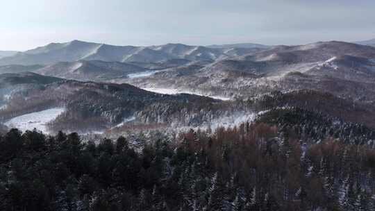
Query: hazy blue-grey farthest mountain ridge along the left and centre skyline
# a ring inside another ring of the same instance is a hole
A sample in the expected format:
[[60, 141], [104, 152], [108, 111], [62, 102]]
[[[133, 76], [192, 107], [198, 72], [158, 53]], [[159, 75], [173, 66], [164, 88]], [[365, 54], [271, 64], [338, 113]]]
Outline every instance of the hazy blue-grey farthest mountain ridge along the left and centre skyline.
[[[234, 48], [235, 49], [235, 48]], [[163, 62], [171, 59], [217, 60], [233, 56], [231, 49], [213, 49], [185, 44], [165, 44], [151, 47], [114, 46], [74, 40], [51, 43], [13, 56], [0, 58], [0, 65], [52, 65], [56, 62], [102, 60], [107, 62]], [[235, 56], [249, 50], [235, 51]]]

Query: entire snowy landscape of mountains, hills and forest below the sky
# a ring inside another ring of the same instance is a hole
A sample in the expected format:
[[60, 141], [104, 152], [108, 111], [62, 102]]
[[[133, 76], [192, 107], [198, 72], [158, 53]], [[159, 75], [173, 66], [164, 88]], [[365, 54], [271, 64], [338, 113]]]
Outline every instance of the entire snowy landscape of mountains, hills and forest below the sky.
[[0, 51], [0, 208], [374, 210], [373, 41]]

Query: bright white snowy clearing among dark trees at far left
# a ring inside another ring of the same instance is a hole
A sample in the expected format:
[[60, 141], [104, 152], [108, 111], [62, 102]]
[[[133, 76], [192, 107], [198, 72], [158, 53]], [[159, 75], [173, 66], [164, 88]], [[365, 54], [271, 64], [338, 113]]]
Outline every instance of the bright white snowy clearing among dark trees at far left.
[[9, 128], [18, 128], [23, 132], [26, 130], [37, 130], [43, 133], [49, 133], [46, 124], [53, 119], [56, 119], [58, 115], [63, 113], [65, 108], [51, 108], [47, 110], [42, 110], [40, 112], [33, 112], [19, 117], [15, 117], [6, 121], [5, 125]]

